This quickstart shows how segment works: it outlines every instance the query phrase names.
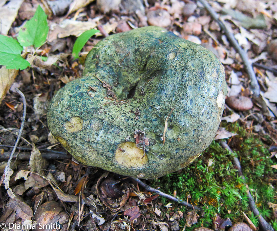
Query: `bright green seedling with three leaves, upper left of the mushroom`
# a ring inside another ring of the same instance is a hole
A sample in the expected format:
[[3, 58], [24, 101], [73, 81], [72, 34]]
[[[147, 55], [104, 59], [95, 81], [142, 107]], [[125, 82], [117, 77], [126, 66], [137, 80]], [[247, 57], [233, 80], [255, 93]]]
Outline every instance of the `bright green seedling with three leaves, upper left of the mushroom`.
[[[7, 69], [26, 69], [31, 66], [26, 59], [21, 56], [23, 47], [34, 46], [41, 47], [46, 39], [49, 31], [47, 24], [47, 15], [41, 6], [38, 6], [34, 16], [26, 22], [20, 29], [16, 39], [0, 35], [0, 65], [6, 66]], [[87, 40], [99, 30], [87, 30], [76, 40], [72, 55], [79, 58], [78, 54], [86, 44]], [[45, 60], [46, 57], [41, 57]]]

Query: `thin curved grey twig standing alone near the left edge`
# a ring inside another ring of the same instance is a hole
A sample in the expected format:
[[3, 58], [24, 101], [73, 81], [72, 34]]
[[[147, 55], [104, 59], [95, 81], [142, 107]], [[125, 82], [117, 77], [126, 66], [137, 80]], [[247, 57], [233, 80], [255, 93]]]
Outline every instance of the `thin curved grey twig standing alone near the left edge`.
[[15, 197], [15, 194], [12, 192], [11, 188], [10, 188], [10, 177], [11, 175], [13, 174], [13, 170], [11, 169], [11, 160], [14, 156], [14, 153], [15, 153], [15, 150], [16, 150], [16, 147], [18, 145], [18, 142], [20, 140], [20, 137], [21, 137], [21, 134], [22, 134], [22, 131], [23, 131], [23, 128], [24, 128], [24, 123], [25, 123], [25, 118], [26, 118], [26, 108], [27, 108], [27, 103], [26, 103], [26, 99], [25, 99], [25, 96], [24, 94], [18, 89], [18, 88], [15, 88], [15, 91], [21, 96], [22, 98], [22, 101], [23, 101], [23, 118], [22, 118], [22, 123], [21, 123], [21, 127], [20, 127], [20, 130], [19, 130], [19, 133], [18, 133], [18, 137], [17, 137], [17, 140], [15, 142], [15, 146], [14, 148], [12, 149], [12, 152], [11, 152], [11, 156], [8, 160], [8, 163], [6, 165], [6, 168], [5, 168], [5, 171], [4, 171], [4, 184], [5, 184], [5, 188], [8, 190], [8, 194], [11, 198], [14, 198]]

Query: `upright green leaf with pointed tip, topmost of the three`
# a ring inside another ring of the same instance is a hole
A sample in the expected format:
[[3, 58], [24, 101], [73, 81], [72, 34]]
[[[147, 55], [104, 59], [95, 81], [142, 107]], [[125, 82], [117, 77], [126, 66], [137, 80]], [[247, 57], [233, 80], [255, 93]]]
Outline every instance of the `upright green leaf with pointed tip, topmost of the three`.
[[41, 6], [38, 6], [34, 16], [19, 31], [17, 39], [21, 46], [34, 45], [35, 47], [40, 47], [45, 43], [48, 30], [47, 15]]

